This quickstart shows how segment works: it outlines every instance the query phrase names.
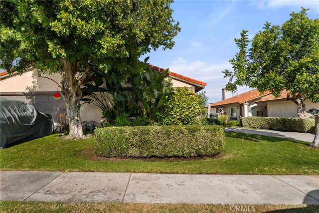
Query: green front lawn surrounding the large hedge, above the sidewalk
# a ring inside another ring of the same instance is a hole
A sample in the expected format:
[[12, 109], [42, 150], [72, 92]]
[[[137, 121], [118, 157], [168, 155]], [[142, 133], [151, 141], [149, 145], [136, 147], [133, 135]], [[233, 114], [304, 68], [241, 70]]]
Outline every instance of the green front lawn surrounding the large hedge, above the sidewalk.
[[310, 143], [225, 133], [216, 157], [196, 159], [104, 159], [93, 155], [94, 138], [61, 140], [61, 134], [0, 150], [1, 170], [143, 172], [180, 174], [319, 174], [319, 149]]

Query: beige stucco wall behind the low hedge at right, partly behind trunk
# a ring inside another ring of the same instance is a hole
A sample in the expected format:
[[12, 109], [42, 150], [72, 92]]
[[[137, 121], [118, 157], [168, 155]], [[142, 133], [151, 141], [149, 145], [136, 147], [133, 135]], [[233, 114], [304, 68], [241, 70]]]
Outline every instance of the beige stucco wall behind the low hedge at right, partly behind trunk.
[[[319, 103], [312, 103], [310, 100], [305, 101], [306, 110], [315, 108], [319, 109]], [[292, 101], [268, 102], [268, 117], [297, 117], [297, 105]]]

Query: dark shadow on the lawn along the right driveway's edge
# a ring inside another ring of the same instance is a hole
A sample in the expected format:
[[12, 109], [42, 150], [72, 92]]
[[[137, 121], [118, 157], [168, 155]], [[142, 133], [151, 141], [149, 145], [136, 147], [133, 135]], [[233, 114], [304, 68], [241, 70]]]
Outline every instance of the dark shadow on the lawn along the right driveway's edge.
[[304, 142], [304, 141], [297, 141], [287, 138], [279, 138], [280, 134], [272, 133], [272, 136], [264, 136], [264, 135], [256, 135], [256, 134], [250, 134], [250, 133], [239, 133], [239, 132], [231, 132], [227, 131], [225, 132], [225, 135], [230, 138], [235, 139], [243, 139], [246, 141], [252, 141], [252, 142], [261, 142], [261, 141], [267, 141], [267, 142], [292, 142], [296, 144], [302, 144], [307, 147], [310, 147], [310, 142]]

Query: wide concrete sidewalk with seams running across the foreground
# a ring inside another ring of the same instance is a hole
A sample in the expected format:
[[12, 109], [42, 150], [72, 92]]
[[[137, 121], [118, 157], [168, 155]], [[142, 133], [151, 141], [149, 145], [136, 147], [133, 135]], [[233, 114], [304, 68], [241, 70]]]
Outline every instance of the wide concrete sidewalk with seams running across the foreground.
[[0, 171], [0, 200], [316, 204], [319, 176]]

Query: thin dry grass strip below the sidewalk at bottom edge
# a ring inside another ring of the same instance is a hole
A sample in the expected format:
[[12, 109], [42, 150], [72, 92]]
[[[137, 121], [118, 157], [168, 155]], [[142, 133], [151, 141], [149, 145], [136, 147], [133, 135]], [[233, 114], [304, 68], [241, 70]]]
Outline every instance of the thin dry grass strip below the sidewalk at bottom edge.
[[[313, 205], [126, 204], [1, 201], [1, 213], [318, 213]], [[236, 211], [246, 210], [246, 211]], [[240, 209], [242, 208], [242, 209]], [[249, 211], [250, 210], [250, 211]]]

